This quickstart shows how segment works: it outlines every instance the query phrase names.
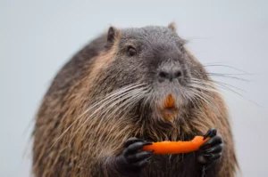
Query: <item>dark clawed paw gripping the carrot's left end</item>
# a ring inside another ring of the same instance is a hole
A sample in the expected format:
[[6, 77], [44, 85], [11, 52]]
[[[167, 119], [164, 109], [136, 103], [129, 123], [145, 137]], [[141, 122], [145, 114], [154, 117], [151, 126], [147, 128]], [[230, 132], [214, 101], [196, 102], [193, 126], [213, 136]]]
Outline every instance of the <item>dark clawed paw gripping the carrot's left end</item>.
[[121, 173], [139, 172], [147, 165], [153, 151], [143, 151], [142, 148], [152, 144], [138, 138], [130, 138], [125, 141], [124, 149], [119, 157], [116, 157], [116, 166]]

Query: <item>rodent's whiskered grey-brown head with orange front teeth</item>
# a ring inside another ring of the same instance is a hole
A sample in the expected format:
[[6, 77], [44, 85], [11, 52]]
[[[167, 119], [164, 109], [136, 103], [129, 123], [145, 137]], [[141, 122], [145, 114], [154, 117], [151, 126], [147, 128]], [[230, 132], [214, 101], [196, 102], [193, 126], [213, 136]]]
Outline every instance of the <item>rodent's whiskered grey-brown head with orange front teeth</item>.
[[124, 111], [138, 109], [137, 117], [178, 120], [201, 101], [212, 102], [209, 93], [214, 90], [205, 68], [185, 44], [173, 24], [111, 27], [105, 44], [109, 54], [104, 56], [102, 72], [94, 75], [95, 89], [111, 98], [116, 95], [114, 105]]

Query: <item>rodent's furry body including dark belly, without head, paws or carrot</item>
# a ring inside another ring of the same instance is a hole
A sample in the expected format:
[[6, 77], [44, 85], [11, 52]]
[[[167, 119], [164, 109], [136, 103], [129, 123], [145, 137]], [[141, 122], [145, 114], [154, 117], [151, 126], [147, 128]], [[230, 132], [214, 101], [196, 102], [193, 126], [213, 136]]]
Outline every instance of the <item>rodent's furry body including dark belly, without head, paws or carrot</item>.
[[[106, 45], [106, 38], [105, 35], [100, 36], [78, 52], [61, 69], [46, 93], [34, 131], [33, 173], [37, 177], [121, 176], [111, 161], [121, 153], [122, 143], [130, 137], [147, 141], [187, 141], [214, 127], [222, 135], [225, 146], [222, 158], [207, 167], [206, 176], [234, 176], [237, 160], [230, 123], [222, 97], [217, 93], [208, 93], [215, 100], [214, 108], [200, 101], [188, 109], [181, 109], [180, 118], [174, 122], [148, 119], [154, 113], [141, 106], [106, 119], [102, 111], [90, 117], [96, 109], [85, 114], [91, 104], [118, 89], [120, 84], [144, 79], [143, 76], [125, 77], [119, 84], [116, 77], [121, 76], [107, 74], [109, 67], [117, 62], [114, 55], [121, 36], [117, 36], [110, 47]], [[196, 60], [186, 52], [192, 60]], [[202, 71], [204, 68], [200, 69]], [[140, 114], [141, 111], [144, 113]], [[68, 132], [59, 139], [69, 127]], [[202, 170], [203, 166], [197, 164], [195, 153], [154, 156], [141, 176], [200, 176]]]

